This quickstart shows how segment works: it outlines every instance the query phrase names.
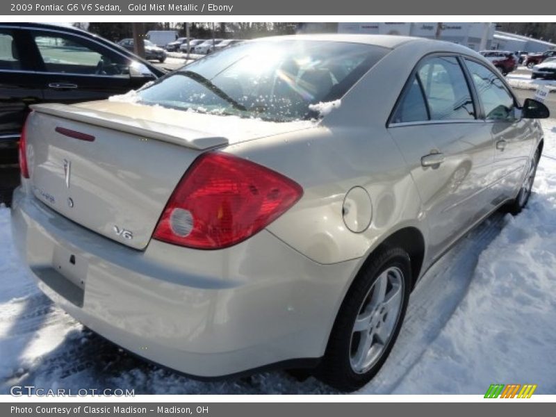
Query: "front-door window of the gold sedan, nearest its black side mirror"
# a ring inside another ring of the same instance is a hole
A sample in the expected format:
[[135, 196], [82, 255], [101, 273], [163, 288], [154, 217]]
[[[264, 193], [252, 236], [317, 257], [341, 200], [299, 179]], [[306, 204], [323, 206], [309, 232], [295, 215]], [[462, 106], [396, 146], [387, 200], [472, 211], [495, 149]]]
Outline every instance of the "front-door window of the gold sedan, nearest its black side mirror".
[[514, 97], [500, 77], [480, 63], [468, 59], [465, 63], [475, 83], [486, 120], [514, 120]]

